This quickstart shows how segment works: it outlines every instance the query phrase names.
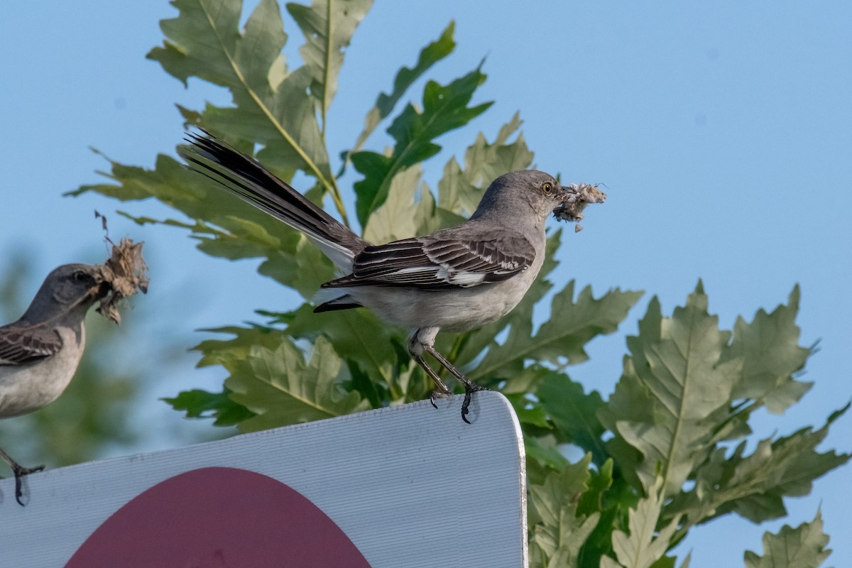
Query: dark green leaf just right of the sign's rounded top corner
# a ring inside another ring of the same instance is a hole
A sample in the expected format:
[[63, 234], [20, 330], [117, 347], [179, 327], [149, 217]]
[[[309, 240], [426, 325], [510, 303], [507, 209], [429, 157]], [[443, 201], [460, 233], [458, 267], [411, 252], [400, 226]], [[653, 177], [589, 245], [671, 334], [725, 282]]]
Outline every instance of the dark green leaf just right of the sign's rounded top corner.
[[581, 384], [556, 372], [544, 376], [535, 393], [562, 434], [561, 441], [579, 445], [601, 466], [609, 456], [601, 439], [605, 428], [596, 416], [604, 404], [601, 395], [596, 391], [584, 393]]

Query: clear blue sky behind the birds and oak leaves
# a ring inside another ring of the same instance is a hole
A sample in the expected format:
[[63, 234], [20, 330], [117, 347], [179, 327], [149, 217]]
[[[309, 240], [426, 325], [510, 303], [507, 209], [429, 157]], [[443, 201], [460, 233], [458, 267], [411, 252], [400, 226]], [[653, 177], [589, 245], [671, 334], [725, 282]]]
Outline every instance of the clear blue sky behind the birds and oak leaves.
[[[125, 317], [140, 346], [125, 363], [152, 374], [152, 408], [143, 414], [171, 424], [154, 428], [140, 449], [180, 445], [186, 422], [156, 399], [216, 388], [222, 372], [193, 370], [192, 357], [164, 369], [146, 360], [145, 347], [159, 338], [190, 347], [203, 337], [191, 330], [291, 298], [254, 277], [251, 262], [209, 259], [181, 231], [135, 227], [114, 215], [115, 202], [61, 193], [99, 181], [95, 170], [107, 164], [89, 146], [150, 167], [181, 139], [176, 102], [199, 108], [227, 96], [198, 82], [185, 90], [144, 58], [162, 41], [158, 20], [176, 14], [165, 2], [12, 3], [4, 12], [0, 255], [26, 250], [42, 273], [103, 261], [93, 209], [110, 216], [113, 236], [147, 241], [152, 288], [135, 312], [156, 307], [157, 316], [136, 328], [133, 313]], [[379, 2], [348, 50], [329, 118], [332, 148], [354, 141], [377, 89], [389, 89], [400, 65], [412, 65], [449, 20], [458, 48], [435, 78], [446, 82], [487, 56], [479, 97], [496, 103], [475, 129], [492, 137], [520, 110], [539, 169], [609, 188], [607, 204], [588, 210], [584, 232], [563, 239], [557, 284], [646, 290], [619, 333], [590, 346], [592, 360], [572, 370], [575, 379], [611, 392], [624, 336], [651, 295], [671, 313], [702, 278], [711, 312], [730, 328], [737, 314], [751, 319], [758, 307], [786, 301], [798, 283], [802, 343], [820, 341], [804, 377], [815, 386], [785, 416], [759, 416], [757, 433], [819, 425], [849, 400], [852, 4]], [[287, 25], [294, 54], [301, 37]], [[444, 152], [426, 169], [431, 186], [471, 140], [471, 130], [440, 140]], [[156, 204], [126, 209], [168, 214]], [[850, 434], [847, 416], [823, 449], [852, 450]], [[792, 525], [821, 507], [834, 549], [828, 565], [852, 565], [848, 485], [847, 467], [818, 481], [812, 496], [788, 501]], [[743, 551], [760, 552], [763, 531], [779, 526], [725, 518], [699, 527], [679, 552], [694, 549], [693, 568], [741, 565]]]

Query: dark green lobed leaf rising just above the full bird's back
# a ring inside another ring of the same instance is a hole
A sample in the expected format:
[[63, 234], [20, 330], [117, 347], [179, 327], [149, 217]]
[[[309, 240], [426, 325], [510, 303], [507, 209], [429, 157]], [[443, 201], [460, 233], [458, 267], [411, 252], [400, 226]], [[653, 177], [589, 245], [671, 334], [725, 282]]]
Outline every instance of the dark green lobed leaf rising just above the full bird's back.
[[407, 105], [391, 123], [388, 132], [396, 144], [390, 156], [376, 152], [351, 155], [355, 169], [365, 176], [354, 186], [355, 211], [361, 225], [366, 225], [371, 212], [388, 198], [394, 175], [434, 156], [440, 151], [435, 138], [464, 126], [491, 106], [490, 102], [468, 106], [485, 77], [477, 67], [446, 86], [429, 81], [423, 90], [423, 111]]

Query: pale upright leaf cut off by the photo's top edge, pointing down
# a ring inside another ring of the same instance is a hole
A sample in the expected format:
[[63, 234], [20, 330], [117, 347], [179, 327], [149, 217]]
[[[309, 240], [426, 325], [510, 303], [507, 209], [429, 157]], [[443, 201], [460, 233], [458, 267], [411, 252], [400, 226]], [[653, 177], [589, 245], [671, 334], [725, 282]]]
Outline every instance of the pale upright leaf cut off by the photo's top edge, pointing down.
[[320, 108], [323, 129], [326, 112], [337, 93], [343, 49], [371, 5], [372, 0], [312, 0], [310, 6], [287, 4], [287, 11], [305, 35], [306, 43], [299, 48], [299, 54], [311, 74], [311, 95]]

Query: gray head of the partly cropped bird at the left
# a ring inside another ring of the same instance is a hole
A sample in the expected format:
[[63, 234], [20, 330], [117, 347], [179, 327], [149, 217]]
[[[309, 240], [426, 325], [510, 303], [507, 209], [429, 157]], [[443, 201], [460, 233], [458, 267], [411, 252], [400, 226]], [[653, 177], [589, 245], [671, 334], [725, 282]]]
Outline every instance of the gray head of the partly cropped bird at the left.
[[101, 267], [64, 264], [44, 278], [42, 287], [21, 318], [32, 323], [45, 318], [82, 320], [89, 307], [109, 290], [110, 284], [104, 281]]

